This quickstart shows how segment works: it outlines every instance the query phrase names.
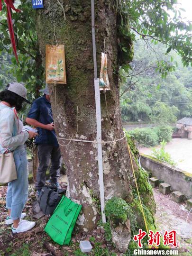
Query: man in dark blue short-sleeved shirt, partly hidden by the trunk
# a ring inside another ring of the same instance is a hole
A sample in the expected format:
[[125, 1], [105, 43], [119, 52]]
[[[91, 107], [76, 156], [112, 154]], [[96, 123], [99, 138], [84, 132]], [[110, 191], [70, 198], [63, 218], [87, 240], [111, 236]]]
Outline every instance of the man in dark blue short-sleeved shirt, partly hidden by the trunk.
[[50, 159], [51, 167], [49, 174], [51, 186], [59, 188], [57, 178], [59, 177], [59, 169], [61, 167], [61, 153], [55, 134], [47, 84], [46, 89], [39, 91], [43, 91], [44, 95], [33, 102], [26, 119], [29, 125], [37, 127], [38, 129], [38, 137], [35, 140], [39, 161], [36, 183], [37, 197], [39, 196], [41, 188], [46, 183], [46, 170], [49, 166]]

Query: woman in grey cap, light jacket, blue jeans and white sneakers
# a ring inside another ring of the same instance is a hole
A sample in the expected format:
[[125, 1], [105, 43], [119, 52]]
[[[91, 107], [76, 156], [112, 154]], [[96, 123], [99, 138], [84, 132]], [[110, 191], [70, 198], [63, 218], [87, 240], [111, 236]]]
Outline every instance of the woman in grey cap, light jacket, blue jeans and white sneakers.
[[21, 83], [9, 83], [0, 92], [0, 153], [14, 152], [17, 180], [8, 183], [6, 208], [8, 217], [5, 224], [13, 224], [12, 232], [20, 233], [32, 229], [34, 221], [22, 220], [26, 213], [22, 213], [28, 196], [28, 167], [25, 142], [34, 138], [33, 131], [22, 132], [23, 124], [18, 119], [17, 111], [22, 109], [27, 90]]

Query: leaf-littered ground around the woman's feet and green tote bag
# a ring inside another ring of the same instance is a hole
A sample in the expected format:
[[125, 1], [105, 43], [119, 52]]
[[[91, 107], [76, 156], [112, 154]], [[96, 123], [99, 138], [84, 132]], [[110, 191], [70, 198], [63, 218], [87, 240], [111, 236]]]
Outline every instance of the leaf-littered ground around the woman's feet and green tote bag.
[[[65, 180], [65, 179], [64, 179]], [[60, 182], [62, 188], [66, 183]], [[43, 231], [48, 217], [44, 216], [35, 220], [37, 225], [32, 231], [13, 235], [10, 227], [4, 224], [7, 217], [5, 208], [6, 186], [0, 187], [0, 256], [83, 256], [79, 249], [80, 240], [89, 239], [93, 250], [92, 256], [115, 256], [117, 251], [114, 247], [106, 244], [104, 230], [98, 227], [92, 233], [83, 235], [75, 230], [70, 246], [59, 246]], [[33, 215], [32, 205], [36, 201], [34, 185], [30, 185], [29, 197], [25, 211], [27, 219], [31, 220]], [[34, 219], [33, 219], [34, 220]]]

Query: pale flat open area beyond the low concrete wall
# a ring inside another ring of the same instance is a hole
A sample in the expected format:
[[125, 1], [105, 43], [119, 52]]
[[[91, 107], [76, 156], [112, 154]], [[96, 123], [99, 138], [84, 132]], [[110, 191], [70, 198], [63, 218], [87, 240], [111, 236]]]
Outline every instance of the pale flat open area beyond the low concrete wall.
[[[156, 146], [155, 148], [159, 148]], [[166, 152], [168, 152], [175, 163], [176, 167], [192, 173], [192, 140], [187, 138], [174, 138], [165, 146]], [[139, 148], [139, 152], [145, 155], [152, 155], [152, 148], [142, 147]]]

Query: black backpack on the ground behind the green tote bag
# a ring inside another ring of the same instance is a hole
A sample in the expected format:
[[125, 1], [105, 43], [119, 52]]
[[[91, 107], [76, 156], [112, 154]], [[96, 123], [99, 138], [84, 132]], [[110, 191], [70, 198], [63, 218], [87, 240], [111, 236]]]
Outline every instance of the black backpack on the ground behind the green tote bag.
[[62, 196], [66, 193], [64, 189], [44, 186], [39, 194], [39, 207], [46, 215], [53, 214]]

